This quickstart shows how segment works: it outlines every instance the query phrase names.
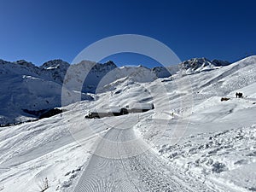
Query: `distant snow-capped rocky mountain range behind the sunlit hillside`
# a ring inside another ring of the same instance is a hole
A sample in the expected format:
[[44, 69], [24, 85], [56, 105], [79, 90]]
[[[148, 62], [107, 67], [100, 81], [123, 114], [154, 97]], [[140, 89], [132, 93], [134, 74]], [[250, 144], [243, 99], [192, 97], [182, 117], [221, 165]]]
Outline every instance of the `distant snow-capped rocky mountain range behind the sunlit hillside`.
[[[178, 67], [188, 71], [203, 71], [206, 67], [225, 66], [228, 62], [193, 59], [184, 61], [179, 66], [154, 67], [152, 69], [138, 67], [117, 67], [113, 61], [100, 64], [94, 61], [81, 61], [70, 65], [66, 61], [47, 61], [37, 67], [27, 61], [0, 60], [0, 125], [22, 122], [31, 117], [32, 113], [49, 108], [61, 107], [61, 90], [65, 86], [68, 91], [79, 96], [82, 100], [91, 100], [87, 93], [114, 90], [111, 84], [127, 81], [146, 83], [158, 78], [167, 78], [177, 73]], [[68, 71], [68, 73], [67, 73]], [[86, 78], [84, 77], [86, 76]], [[84, 79], [85, 78], [85, 79]], [[82, 89], [81, 89], [82, 88]], [[71, 95], [73, 95], [71, 94]], [[75, 102], [70, 100], [70, 102]], [[26, 111], [26, 113], [24, 112]], [[31, 111], [32, 113], [27, 113]]]

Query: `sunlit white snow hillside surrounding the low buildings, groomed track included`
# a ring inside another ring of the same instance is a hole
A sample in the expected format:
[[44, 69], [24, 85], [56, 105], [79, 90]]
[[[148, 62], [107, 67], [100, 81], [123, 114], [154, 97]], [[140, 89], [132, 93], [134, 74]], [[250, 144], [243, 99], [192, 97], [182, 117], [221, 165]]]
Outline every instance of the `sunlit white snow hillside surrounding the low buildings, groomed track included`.
[[[119, 79], [91, 96], [0, 128], [1, 192], [256, 191], [256, 56], [172, 80]], [[132, 102], [155, 108], [84, 119]]]

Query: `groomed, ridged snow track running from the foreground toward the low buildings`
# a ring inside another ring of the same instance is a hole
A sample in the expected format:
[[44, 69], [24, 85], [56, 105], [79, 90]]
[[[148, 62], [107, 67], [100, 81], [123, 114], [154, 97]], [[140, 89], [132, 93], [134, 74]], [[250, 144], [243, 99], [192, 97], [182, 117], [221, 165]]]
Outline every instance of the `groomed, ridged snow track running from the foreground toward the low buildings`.
[[[102, 137], [74, 191], [213, 191], [201, 181], [169, 167], [146, 143], [126, 143], [134, 139], [137, 137], [132, 127], [111, 128]], [[134, 150], [139, 154], [134, 154]]]

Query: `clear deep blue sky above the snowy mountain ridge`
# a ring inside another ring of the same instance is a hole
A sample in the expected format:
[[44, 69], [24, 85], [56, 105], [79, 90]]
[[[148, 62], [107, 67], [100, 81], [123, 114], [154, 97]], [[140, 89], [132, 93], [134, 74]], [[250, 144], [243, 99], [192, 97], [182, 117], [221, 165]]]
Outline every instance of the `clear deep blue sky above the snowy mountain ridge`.
[[[101, 38], [133, 33], [160, 40], [182, 61], [237, 61], [256, 54], [255, 7], [253, 0], [1, 0], [0, 58], [71, 62]], [[113, 61], [147, 62], [134, 55], [115, 55]]]

